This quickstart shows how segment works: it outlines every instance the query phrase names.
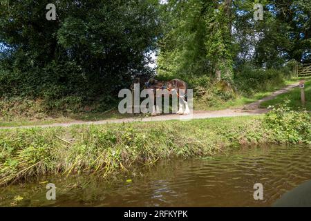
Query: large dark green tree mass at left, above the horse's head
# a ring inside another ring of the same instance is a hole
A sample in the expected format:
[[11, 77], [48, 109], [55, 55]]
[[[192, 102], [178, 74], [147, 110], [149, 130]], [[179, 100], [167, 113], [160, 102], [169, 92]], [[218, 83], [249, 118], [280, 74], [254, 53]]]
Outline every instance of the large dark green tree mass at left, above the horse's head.
[[1, 97], [76, 96], [108, 109], [115, 100], [106, 97], [117, 97], [133, 75], [152, 73], [146, 57], [159, 34], [157, 1], [62, 0], [56, 21], [46, 20], [48, 3], [0, 4]]

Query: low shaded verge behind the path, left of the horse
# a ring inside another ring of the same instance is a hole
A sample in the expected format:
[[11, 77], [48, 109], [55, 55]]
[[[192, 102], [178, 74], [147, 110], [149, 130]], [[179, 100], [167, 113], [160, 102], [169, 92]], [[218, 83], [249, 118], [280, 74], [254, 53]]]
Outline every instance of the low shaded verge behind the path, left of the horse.
[[[66, 109], [66, 106], [64, 106]], [[103, 119], [121, 119], [124, 117], [141, 117], [141, 115], [120, 114], [117, 108], [109, 111], [94, 110], [85, 106], [73, 111], [47, 108], [40, 100], [22, 99], [20, 97], [0, 99], [0, 126], [43, 125], [76, 121], [97, 121]]]

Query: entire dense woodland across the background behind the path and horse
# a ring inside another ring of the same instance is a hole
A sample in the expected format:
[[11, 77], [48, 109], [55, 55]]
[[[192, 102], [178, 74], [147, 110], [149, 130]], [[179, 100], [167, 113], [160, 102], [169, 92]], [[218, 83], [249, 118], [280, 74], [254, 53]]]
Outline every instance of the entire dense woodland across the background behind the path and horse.
[[[156, 75], [184, 79], [211, 106], [214, 97], [281, 84], [295, 63], [311, 63], [308, 0], [59, 0], [55, 21], [46, 19], [48, 3], [1, 0], [1, 99], [104, 111], [134, 77]], [[254, 3], [264, 6], [262, 21]]]

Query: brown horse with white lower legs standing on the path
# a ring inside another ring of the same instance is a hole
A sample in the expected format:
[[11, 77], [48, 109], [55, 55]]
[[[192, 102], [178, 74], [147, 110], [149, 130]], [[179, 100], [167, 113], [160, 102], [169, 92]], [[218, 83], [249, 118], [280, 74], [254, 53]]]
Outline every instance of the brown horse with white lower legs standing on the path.
[[[189, 106], [187, 103], [187, 84], [185, 81], [182, 81], [181, 79], [172, 79], [171, 81], [158, 81], [156, 79], [149, 79], [148, 81], [141, 81], [140, 79], [135, 79], [133, 84], [140, 84], [140, 86], [143, 85], [143, 88], [152, 90], [155, 97], [157, 96], [156, 91], [167, 89], [169, 93], [176, 93], [176, 95], [179, 97], [179, 110], [176, 114], [178, 115], [188, 115], [190, 113]], [[133, 89], [133, 84], [131, 85], [131, 88]], [[161, 95], [162, 96], [162, 95]], [[156, 103], [156, 99], [155, 99]], [[185, 108], [185, 111], [184, 111]], [[156, 106], [153, 106], [153, 112], [151, 115], [157, 115], [159, 113], [159, 107], [156, 104]]]

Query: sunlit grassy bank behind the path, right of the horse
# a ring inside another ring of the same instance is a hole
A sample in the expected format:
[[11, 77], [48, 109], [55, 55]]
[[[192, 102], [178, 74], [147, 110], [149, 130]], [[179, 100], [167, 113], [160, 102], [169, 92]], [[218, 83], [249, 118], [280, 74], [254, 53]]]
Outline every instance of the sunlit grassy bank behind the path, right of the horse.
[[174, 77], [184, 79], [189, 88], [194, 90], [194, 109], [206, 111], [241, 107], [299, 81], [288, 68], [258, 70], [245, 67], [236, 71], [229, 84], [224, 81], [216, 82], [207, 75], [193, 77], [180, 76], [178, 73]]

